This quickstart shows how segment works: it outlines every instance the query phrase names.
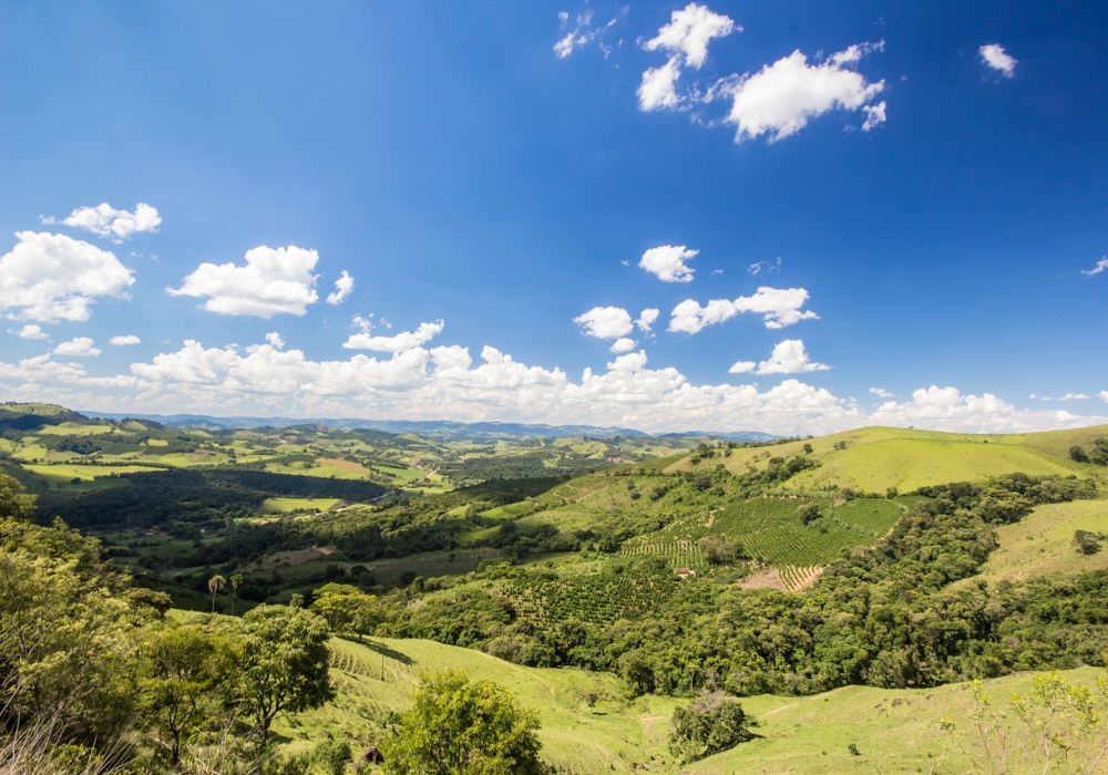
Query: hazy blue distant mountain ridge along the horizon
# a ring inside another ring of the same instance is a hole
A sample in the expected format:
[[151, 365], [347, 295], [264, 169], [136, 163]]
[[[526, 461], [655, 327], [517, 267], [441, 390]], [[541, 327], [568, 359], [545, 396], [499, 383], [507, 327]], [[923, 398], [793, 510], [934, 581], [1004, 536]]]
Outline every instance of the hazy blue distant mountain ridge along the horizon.
[[488, 438], [563, 438], [565, 436], [588, 436], [606, 438], [608, 436], [657, 436], [659, 438], [678, 438], [681, 436], [711, 436], [733, 442], [769, 442], [780, 436], [757, 431], [738, 431], [735, 433], [688, 432], [649, 434], [635, 428], [599, 427], [596, 425], [545, 425], [542, 423], [460, 423], [444, 420], [357, 420], [349, 417], [216, 417], [206, 414], [142, 414], [142, 413], [107, 413], [81, 412], [88, 417], [105, 420], [153, 420], [172, 427], [207, 427], [207, 428], [255, 428], [255, 427], [289, 427], [293, 425], [327, 425], [335, 428], [368, 428], [386, 433], [417, 433], [421, 436], [454, 438], [459, 436], [479, 436]]

